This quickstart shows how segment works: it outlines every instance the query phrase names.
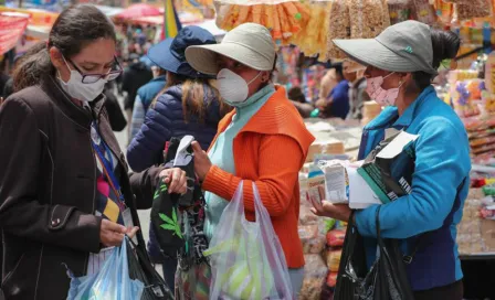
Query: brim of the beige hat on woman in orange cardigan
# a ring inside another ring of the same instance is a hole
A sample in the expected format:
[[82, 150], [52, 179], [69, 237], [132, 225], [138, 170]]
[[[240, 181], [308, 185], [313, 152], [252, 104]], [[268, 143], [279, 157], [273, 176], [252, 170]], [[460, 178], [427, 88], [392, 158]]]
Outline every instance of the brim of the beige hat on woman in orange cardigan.
[[194, 45], [186, 50], [186, 60], [198, 72], [217, 75], [217, 56], [222, 55], [257, 71], [270, 71], [259, 60], [259, 53], [240, 44], [223, 43], [214, 45]]

